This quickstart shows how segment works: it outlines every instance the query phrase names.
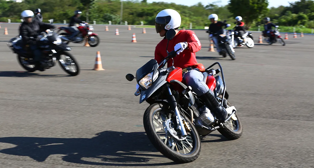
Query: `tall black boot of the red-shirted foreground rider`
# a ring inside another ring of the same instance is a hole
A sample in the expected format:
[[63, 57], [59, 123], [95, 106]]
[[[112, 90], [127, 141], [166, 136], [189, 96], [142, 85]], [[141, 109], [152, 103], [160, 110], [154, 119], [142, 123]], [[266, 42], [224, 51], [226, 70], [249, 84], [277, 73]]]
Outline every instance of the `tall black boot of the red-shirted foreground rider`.
[[204, 101], [210, 110], [214, 111], [216, 118], [220, 122], [225, 122], [225, 120], [228, 118], [228, 113], [225, 107], [221, 106], [220, 103], [216, 100], [214, 93], [211, 90], [200, 96], [200, 98]]

